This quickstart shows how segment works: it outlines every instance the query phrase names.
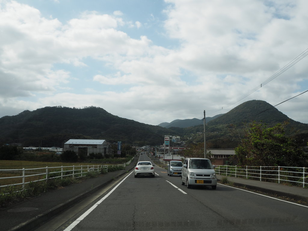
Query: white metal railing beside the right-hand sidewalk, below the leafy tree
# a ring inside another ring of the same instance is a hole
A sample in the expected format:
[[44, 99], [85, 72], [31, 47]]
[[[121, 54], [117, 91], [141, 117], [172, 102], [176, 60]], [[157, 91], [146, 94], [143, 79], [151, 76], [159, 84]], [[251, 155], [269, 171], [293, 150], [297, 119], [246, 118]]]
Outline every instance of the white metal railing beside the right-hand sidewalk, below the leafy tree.
[[308, 187], [308, 168], [305, 167], [217, 165], [215, 171], [219, 175]]

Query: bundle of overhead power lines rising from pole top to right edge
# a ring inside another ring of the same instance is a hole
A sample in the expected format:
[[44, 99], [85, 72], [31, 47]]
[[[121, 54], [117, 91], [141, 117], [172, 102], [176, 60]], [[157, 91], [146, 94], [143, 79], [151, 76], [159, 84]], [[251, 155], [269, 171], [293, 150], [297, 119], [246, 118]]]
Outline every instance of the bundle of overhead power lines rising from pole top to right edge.
[[305, 58], [308, 55], [308, 49], [306, 49], [305, 51], [303, 51], [300, 55], [298, 55], [295, 59], [293, 59], [292, 61], [290, 61], [286, 66], [282, 67], [279, 71], [277, 71], [274, 75], [272, 75], [270, 78], [266, 79], [263, 83], [261, 83], [259, 86], [253, 88], [252, 90], [250, 90], [249, 92], [247, 92], [246, 94], [242, 95], [241, 97], [233, 100], [232, 102], [228, 103], [227, 105], [223, 106], [223, 107], [219, 107], [213, 110], [209, 110], [206, 111], [208, 112], [207, 114], [212, 114], [214, 112], [220, 111], [223, 108], [229, 107], [239, 101], [241, 101], [242, 99], [246, 98], [247, 96], [251, 95], [253, 92], [257, 91], [259, 88], [261, 88], [262, 86], [264, 86], [265, 84], [269, 83], [270, 81], [272, 81], [273, 79], [275, 79], [276, 77], [278, 77], [279, 75], [281, 75], [283, 72], [285, 72], [286, 70], [288, 70], [290, 67], [294, 66], [296, 63], [298, 63], [300, 60], [302, 60], [303, 58]]

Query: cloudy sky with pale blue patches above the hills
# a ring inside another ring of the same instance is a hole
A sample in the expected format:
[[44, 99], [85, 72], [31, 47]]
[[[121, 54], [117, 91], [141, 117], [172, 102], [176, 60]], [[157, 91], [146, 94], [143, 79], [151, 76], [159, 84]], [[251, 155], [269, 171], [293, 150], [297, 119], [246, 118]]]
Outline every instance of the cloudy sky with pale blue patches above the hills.
[[[308, 48], [307, 9], [306, 0], [0, 0], [0, 117], [97, 106], [157, 125], [252, 99], [274, 106], [308, 90], [308, 57], [283, 69]], [[276, 108], [308, 123], [307, 99]]]

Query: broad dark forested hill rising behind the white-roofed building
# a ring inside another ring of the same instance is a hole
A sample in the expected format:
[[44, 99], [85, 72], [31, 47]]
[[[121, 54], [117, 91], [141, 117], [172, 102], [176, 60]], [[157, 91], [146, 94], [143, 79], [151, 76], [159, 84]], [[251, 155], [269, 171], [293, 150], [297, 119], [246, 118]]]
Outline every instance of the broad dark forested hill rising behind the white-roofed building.
[[103, 139], [127, 144], [162, 144], [173, 131], [112, 115], [99, 107], [44, 107], [0, 118], [0, 142], [59, 146], [68, 139]]

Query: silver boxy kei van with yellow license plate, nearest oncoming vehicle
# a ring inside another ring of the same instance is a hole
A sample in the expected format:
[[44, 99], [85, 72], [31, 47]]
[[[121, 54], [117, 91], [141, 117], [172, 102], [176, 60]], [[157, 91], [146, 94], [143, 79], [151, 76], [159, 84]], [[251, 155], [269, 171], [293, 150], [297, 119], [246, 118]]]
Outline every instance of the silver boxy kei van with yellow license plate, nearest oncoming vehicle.
[[216, 189], [217, 178], [211, 161], [205, 158], [185, 158], [181, 182], [182, 185], [186, 183], [187, 188], [191, 188], [192, 185], [203, 185]]

